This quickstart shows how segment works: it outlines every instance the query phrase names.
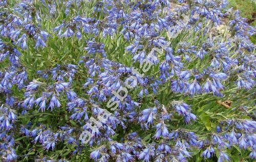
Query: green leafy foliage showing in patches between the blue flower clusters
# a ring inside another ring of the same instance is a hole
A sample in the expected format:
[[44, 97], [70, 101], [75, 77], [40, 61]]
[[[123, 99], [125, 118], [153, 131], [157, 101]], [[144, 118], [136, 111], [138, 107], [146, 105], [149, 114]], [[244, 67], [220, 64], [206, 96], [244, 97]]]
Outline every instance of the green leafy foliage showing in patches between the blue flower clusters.
[[[10, 0], [9, 2], [10, 7], [13, 7], [16, 2], [14, 0]], [[82, 11], [88, 17], [103, 17], [101, 14], [93, 14], [93, 6], [95, 4], [90, 3], [89, 5], [82, 8]], [[255, 20], [255, 10], [256, 4], [253, 1], [245, 0], [230, 0], [230, 6], [234, 9], [239, 9], [241, 11], [242, 16], [248, 19], [248, 22], [252, 25], [256, 25]], [[46, 10], [45, 6], [41, 6], [41, 3], [36, 3], [36, 8], [39, 10]], [[45, 29], [47, 32], [51, 32], [53, 27], [61, 24], [61, 20], [71, 19], [72, 16], [81, 14], [78, 13], [76, 10], [76, 6], [73, 6], [70, 10], [70, 14], [67, 16], [65, 14], [65, 8], [61, 8], [57, 6], [58, 15], [53, 17], [52, 19], [43, 19], [42, 24], [40, 26], [42, 29]], [[172, 44], [176, 44], [178, 39], [182, 39], [186, 37], [187, 33], [182, 33], [177, 39], [173, 39]], [[186, 38], [185, 40], [188, 42], [193, 42], [198, 35], [201, 36], [201, 41], [206, 40], [207, 38], [202, 33], [196, 33], [195, 35]], [[88, 36], [90, 37], [90, 36]], [[84, 39], [88, 39], [87, 36], [84, 36]], [[252, 36], [251, 40], [256, 43], [256, 36]], [[111, 37], [97, 37], [96, 41], [104, 42], [105, 44], [105, 51], [107, 51], [107, 56], [109, 59], [118, 61], [120, 63], [125, 64], [126, 66], [131, 66], [132, 64], [132, 56], [127, 55], [125, 53], [125, 47], [127, 46], [127, 42], [124, 41], [124, 38], [121, 34], [117, 34], [114, 36], [114, 39]], [[123, 44], [120, 44], [122, 43]], [[81, 56], [84, 54], [84, 47], [86, 47], [86, 42], [79, 41], [77, 39], [69, 39], [67, 41], [66, 38], [58, 38], [57, 36], [53, 36], [52, 39], [48, 41], [48, 48], [37, 50], [34, 48], [33, 45], [30, 45], [28, 50], [25, 50], [23, 55], [24, 57], [21, 58], [22, 64], [24, 64], [27, 68], [28, 78], [32, 80], [36, 76], [36, 72], [38, 70], [48, 70], [55, 67], [57, 64], [67, 64], [72, 63], [75, 64], [79, 62]], [[113, 54], [118, 53], [119, 56], [115, 56]], [[51, 54], [51, 55], [49, 55]], [[61, 57], [60, 57], [61, 54]], [[125, 57], [125, 59], [123, 59]], [[0, 64], [0, 68], [6, 68], [8, 62], [4, 62]], [[139, 67], [139, 64], [136, 64]], [[191, 65], [194, 66], [194, 65]], [[201, 66], [201, 65], [195, 65]], [[81, 65], [78, 67], [78, 72], [75, 76], [75, 80], [73, 83], [73, 88], [77, 92], [78, 96], [84, 95], [84, 89], [81, 88], [81, 85], [84, 83], [88, 76], [84, 75], [84, 67]], [[157, 74], [158, 71], [153, 69], [152, 71], [148, 72], [148, 74]], [[45, 80], [39, 80], [44, 82]], [[228, 83], [226, 83], [228, 84]], [[169, 86], [169, 85], [165, 85]], [[17, 87], [13, 87], [14, 94], [16, 98], [22, 98], [24, 94], [24, 90], [19, 90]], [[133, 91], [133, 96], [136, 97], [138, 94], [137, 91]], [[251, 90], [238, 90], [236, 88], [229, 88], [228, 90], [223, 92], [223, 97], [212, 96], [212, 95], [201, 95], [195, 96], [193, 100], [189, 97], [183, 97], [183, 101], [190, 103], [193, 105], [191, 109], [193, 113], [199, 117], [198, 125], [186, 125], [180, 124], [179, 121], [182, 119], [175, 119], [173, 122], [180, 125], [169, 125], [169, 127], [182, 127], [187, 130], [194, 130], [197, 131], [199, 134], [201, 133], [204, 136], [205, 131], [215, 131], [220, 120], [233, 118], [236, 119], [238, 115], [243, 114], [254, 114], [255, 110], [255, 89]], [[0, 96], [1, 97], [1, 96]], [[148, 98], [144, 98], [144, 102], [147, 100], [151, 100], [152, 98], [157, 98], [161, 104], [168, 105], [169, 100], [178, 100], [181, 96], [176, 95], [174, 96], [172, 92], [168, 91], [165, 87], [159, 90], [158, 97], [156, 95], [151, 95]], [[4, 101], [4, 99], [3, 99]], [[221, 102], [231, 101], [231, 105], [229, 107], [225, 107], [221, 105]], [[69, 124], [71, 126], [77, 127], [78, 124], [71, 120], [67, 114], [70, 112], [66, 109], [65, 103], [67, 102], [66, 99], [61, 99], [61, 105], [57, 111], [51, 112], [50, 110], [46, 110], [45, 112], [39, 112], [37, 109], [30, 110], [29, 114], [26, 114], [22, 117], [18, 117], [18, 124], [20, 125], [27, 125], [33, 124], [31, 127], [35, 127], [35, 123], [42, 123], [46, 127], [51, 127], [52, 130], [58, 130], [60, 126], [64, 126], [65, 124]], [[105, 106], [105, 105], [103, 105]], [[143, 105], [141, 109], [146, 108], [148, 105]], [[243, 111], [243, 107], [248, 106], [248, 111]], [[236, 109], [235, 109], [236, 107]], [[240, 109], [241, 108], [241, 109]], [[243, 117], [244, 119], [250, 119], [249, 117]], [[217, 122], [218, 121], [218, 122]], [[140, 127], [136, 127], [135, 125], [130, 125], [126, 130], [119, 131], [114, 136], [114, 139], [123, 139], [123, 135], [127, 132], [133, 132], [139, 130]], [[143, 137], [143, 142], [150, 143], [151, 138], [153, 138], [154, 131], [150, 132], [150, 130], [141, 131], [141, 135]], [[148, 134], [150, 134], [148, 136]], [[65, 158], [71, 159], [71, 161], [92, 161], [90, 159], [90, 152], [93, 150], [90, 147], [86, 147], [81, 150], [81, 154], [77, 154], [73, 156], [73, 151], [76, 149], [74, 146], [69, 145], [68, 142], [58, 144], [53, 151], [46, 151], [40, 144], [31, 143], [31, 139], [27, 138], [26, 136], [16, 137], [15, 141], [19, 144], [15, 151], [19, 156], [19, 161], [33, 161], [34, 158], [42, 159], [45, 155], [53, 159], [58, 158]], [[121, 141], [121, 140], [120, 140]], [[190, 158], [190, 161], [205, 161], [203, 157], [201, 157], [202, 150], [195, 150], [195, 153]], [[228, 151], [228, 155], [230, 155], [231, 160], [233, 161], [253, 161], [248, 158], [249, 151], [241, 150], [240, 148], [232, 147]], [[217, 157], [207, 160], [207, 161], [217, 161]]]

